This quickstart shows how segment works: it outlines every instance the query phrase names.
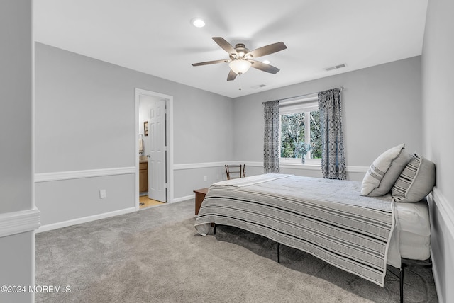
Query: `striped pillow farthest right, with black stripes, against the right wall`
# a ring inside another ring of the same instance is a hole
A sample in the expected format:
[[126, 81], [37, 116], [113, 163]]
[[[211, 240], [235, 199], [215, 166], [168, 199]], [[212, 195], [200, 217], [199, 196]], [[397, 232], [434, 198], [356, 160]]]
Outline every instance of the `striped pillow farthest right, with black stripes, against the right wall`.
[[435, 164], [414, 154], [391, 189], [397, 202], [418, 202], [431, 192], [435, 185]]

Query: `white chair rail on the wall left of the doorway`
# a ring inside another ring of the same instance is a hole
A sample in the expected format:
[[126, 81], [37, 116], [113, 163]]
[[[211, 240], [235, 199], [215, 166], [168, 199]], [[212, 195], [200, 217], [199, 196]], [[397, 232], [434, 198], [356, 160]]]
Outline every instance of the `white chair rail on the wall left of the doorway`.
[[116, 168], [87, 169], [84, 171], [57, 171], [54, 173], [35, 173], [35, 183], [70, 180], [78, 178], [126, 175], [130, 173], [136, 173], [137, 171], [138, 169], [135, 166], [129, 166]]

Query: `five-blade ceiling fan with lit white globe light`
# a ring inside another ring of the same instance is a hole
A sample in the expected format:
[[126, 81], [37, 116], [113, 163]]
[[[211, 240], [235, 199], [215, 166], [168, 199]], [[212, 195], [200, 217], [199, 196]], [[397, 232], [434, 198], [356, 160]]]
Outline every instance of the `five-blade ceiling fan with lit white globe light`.
[[263, 62], [256, 61], [253, 58], [270, 55], [274, 52], [279, 52], [287, 48], [287, 46], [284, 45], [284, 42], [277, 42], [256, 48], [255, 50], [248, 50], [243, 43], [238, 43], [237, 45], [235, 45], [235, 47], [233, 47], [222, 37], [213, 37], [213, 40], [223, 50], [228, 52], [228, 57], [230, 57], [230, 59], [193, 63], [192, 66], [199, 67], [200, 65], [227, 62], [228, 66], [231, 68], [227, 76], [227, 81], [234, 80], [236, 78], [236, 75], [241, 75], [244, 74], [245, 72], [248, 72], [248, 69], [250, 67], [260, 69], [263, 72], [276, 74], [277, 72], [279, 72], [279, 69], [277, 67], [273, 67], [270, 64], [265, 64]]

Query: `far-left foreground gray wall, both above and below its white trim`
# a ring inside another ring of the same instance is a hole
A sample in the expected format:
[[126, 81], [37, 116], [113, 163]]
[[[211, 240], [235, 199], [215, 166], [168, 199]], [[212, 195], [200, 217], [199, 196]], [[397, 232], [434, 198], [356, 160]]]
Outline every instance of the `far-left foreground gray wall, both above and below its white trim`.
[[[33, 207], [31, 7], [0, 1], [1, 219]], [[34, 243], [34, 231], [0, 237], [0, 285], [34, 284]], [[0, 302], [33, 302], [33, 295], [0, 292]]]

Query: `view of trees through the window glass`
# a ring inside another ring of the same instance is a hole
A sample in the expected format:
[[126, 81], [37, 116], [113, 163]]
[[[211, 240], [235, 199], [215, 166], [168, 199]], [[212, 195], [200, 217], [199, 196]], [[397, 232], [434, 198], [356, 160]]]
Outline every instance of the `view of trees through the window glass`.
[[302, 154], [321, 159], [319, 110], [281, 115], [281, 158], [301, 158]]

